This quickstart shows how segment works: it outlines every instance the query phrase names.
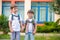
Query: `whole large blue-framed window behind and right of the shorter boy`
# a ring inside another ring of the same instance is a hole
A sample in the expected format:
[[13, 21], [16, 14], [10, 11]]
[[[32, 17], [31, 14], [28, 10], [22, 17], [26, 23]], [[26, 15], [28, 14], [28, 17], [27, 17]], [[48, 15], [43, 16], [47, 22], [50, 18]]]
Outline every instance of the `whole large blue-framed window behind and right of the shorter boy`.
[[49, 3], [32, 2], [31, 8], [34, 10], [37, 22], [53, 21], [54, 13], [51, 11]]

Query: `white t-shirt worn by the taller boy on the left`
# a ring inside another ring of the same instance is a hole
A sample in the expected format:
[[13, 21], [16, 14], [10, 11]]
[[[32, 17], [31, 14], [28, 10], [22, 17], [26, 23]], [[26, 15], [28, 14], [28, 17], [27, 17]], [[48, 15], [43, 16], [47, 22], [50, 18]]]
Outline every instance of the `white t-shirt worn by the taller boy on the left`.
[[[13, 15], [16, 15], [18, 16], [18, 14], [14, 14]], [[13, 20], [12, 20], [12, 15], [9, 16], [9, 21], [12, 21], [12, 29], [14, 31], [20, 31], [20, 23], [19, 23], [19, 20], [18, 20], [18, 17], [16, 16], [13, 16]], [[20, 21], [22, 21], [22, 18], [20, 16]]]

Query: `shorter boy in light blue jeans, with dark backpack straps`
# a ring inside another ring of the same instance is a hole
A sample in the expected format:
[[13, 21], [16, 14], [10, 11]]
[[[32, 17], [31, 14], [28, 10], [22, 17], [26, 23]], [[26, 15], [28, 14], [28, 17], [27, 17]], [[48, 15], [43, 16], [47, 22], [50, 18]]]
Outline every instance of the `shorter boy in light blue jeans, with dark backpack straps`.
[[36, 21], [33, 19], [34, 12], [29, 10], [27, 12], [28, 19], [25, 21], [26, 35], [25, 40], [34, 40], [34, 34], [36, 33]]

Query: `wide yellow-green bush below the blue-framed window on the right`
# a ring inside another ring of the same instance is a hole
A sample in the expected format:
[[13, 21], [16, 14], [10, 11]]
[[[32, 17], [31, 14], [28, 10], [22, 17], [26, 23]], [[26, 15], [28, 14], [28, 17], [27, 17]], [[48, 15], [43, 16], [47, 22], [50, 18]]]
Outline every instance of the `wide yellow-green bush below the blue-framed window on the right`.
[[44, 24], [44, 26], [37, 26], [38, 33], [60, 32], [60, 25], [56, 22], [45, 22]]

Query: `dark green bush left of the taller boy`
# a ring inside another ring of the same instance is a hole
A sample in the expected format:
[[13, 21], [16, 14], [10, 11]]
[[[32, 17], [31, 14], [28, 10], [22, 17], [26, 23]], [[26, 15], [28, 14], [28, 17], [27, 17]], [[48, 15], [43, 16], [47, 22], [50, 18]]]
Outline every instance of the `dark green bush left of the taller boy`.
[[3, 31], [4, 34], [8, 33], [8, 18], [4, 15], [0, 16], [0, 30]]

